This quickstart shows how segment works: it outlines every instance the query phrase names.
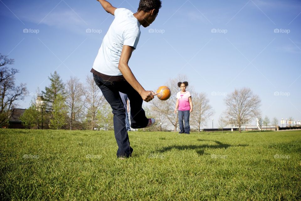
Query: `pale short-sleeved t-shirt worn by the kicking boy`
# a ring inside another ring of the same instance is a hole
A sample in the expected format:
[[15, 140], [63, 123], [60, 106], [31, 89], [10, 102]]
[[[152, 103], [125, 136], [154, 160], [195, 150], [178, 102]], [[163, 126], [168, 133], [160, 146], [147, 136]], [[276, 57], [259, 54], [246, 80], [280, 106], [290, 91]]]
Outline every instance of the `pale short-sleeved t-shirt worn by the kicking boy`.
[[112, 22], [95, 58], [93, 69], [105, 75], [122, 75], [118, 69], [122, 47], [136, 49], [140, 38], [140, 23], [134, 13], [125, 8], [117, 8]]

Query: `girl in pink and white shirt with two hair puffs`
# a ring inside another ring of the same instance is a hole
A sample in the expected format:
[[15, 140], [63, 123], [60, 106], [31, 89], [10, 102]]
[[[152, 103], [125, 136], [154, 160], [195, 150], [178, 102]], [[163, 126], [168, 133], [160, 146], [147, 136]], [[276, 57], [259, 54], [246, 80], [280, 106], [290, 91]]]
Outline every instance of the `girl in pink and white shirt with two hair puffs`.
[[[179, 117], [179, 133], [190, 133], [190, 126], [189, 126], [189, 116], [192, 112], [192, 99], [189, 91], [186, 91], [186, 87], [188, 86], [188, 82], [179, 82], [178, 87], [180, 87], [181, 91], [177, 93], [177, 103], [175, 113], [178, 110], [178, 117]], [[184, 125], [183, 125], [184, 120]]]

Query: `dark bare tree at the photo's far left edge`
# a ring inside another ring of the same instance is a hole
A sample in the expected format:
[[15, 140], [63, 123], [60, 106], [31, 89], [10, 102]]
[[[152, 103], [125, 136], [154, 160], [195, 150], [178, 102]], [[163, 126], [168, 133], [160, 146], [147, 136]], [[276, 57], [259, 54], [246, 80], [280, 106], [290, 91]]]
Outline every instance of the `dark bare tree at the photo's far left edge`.
[[17, 106], [17, 100], [24, 100], [27, 93], [26, 85], [15, 84], [15, 74], [19, 71], [5, 65], [13, 64], [13, 59], [0, 54], [0, 127], [5, 126]]

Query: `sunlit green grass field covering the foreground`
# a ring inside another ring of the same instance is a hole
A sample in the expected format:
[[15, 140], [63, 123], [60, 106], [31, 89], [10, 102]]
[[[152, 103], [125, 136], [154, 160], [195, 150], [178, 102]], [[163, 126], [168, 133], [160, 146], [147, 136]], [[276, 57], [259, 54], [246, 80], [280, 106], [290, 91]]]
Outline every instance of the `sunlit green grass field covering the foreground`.
[[2, 200], [301, 200], [301, 131], [0, 133]]

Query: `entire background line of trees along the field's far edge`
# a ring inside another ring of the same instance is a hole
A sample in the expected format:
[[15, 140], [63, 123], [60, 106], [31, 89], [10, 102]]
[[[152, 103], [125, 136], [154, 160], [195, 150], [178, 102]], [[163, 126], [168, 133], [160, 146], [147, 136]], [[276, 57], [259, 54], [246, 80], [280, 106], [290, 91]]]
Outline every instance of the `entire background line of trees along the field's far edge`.
[[[18, 70], [6, 67], [13, 64], [13, 59], [0, 54], [0, 126], [5, 128], [12, 115], [16, 102], [24, 100], [28, 95], [25, 84], [16, 86], [14, 75]], [[60, 75], [55, 71], [48, 77], [49, 86], [44, 90], [37, 90], [31, 101], [31, 105], [20, 117], [26, 128], [32, 129], [103, 129], [112, 130], [113, 114], [112, 109], [104, 99], [101, 90], [95, 84], [92, 73], [82, 83], [77, 77], [70, 77], [63, 82]], [[145, 103], [146, 116], [156, 119], [156, 124], [145, 130], [173, 130], [178, 128], [178, 117], [174, 113], [176, 105], [176, 94], [180, 90], [178, 82], [188, 81], [186, 76], [179, 75], [175, 79], [168, 80], [164, 85], [171, 89], [171, 97], [162, 101], [157, 98]], [[196, 92], [189, 85], [187, 88], [192, 95], [193, 112], [190, 115], [190, 126], [192, 130], [200, 131], [201, 127], [214, 114], [209, 98], [205, 93]], [[32, 93], [30, 93], [32, 94]], [[260, 119], [260, 124], [268, 125], [268, 117], [261, 118], [261, 100], [258, 95], [253, 94], [250, 88], [235, 89], [224, 98], [226, 110], [221, 112], [218, 120], [219, 128], [227, 125], [235, 125], [239, 128], [242, 125]], [[210, 119], [211, 120], [211, 119]], [[212, 119], [213, 121], [213, 119]], [[277, 118], [272, 124], [278, 123]]]

